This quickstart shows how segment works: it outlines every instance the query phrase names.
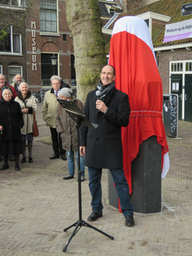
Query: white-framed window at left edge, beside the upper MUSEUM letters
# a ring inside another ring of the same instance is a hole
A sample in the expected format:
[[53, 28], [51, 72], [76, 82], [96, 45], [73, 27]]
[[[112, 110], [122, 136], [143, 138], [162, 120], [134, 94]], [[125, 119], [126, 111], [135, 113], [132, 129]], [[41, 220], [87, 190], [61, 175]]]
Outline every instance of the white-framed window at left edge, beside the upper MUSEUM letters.
[[0, 52], [21, 53], [21, 35], [13, 33], [12, 26], [9, 26], [5, 33], [7, 35], [0, 40]]

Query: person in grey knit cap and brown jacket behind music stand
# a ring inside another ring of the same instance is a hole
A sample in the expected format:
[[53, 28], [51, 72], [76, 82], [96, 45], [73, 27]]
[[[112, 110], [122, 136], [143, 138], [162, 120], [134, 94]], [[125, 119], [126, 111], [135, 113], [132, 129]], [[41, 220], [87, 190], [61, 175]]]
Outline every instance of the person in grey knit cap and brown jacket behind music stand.
[[[78, 99], [73, 99], [73, 90], [71, 88], [62, 88], [59, 92], [61, 100], [73, 101], [80, 108], [84, 109], [84, 105]], [[67, 150], [67, 161], [69, 174], [63, 179], [73, 178], [75, 172], [74, 153], [76, 154], [78, 166], [78, 133], [75, 121], [70, 117], [61, 104], [56, 108], [56, 131], [61, 134], [62, 147]], [[80, 171], [81, 181], [84, 181], [84, 156], [80, 155]]]

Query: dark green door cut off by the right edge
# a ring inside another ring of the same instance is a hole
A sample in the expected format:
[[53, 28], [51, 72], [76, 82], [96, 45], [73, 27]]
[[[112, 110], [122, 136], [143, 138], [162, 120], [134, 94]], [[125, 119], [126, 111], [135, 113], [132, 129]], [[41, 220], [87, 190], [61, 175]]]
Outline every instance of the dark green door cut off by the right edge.
[[185, 75], [184, 120], [192, 122], [192, 74]]

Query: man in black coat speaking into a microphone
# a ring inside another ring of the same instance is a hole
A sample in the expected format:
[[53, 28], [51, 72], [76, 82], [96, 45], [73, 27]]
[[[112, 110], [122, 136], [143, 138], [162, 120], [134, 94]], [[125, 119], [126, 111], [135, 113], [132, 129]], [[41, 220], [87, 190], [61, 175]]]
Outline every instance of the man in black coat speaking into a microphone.
[[[133, 206], [130, 202], [129, 185], [123, 170], [121, 126], [129, 124], [130, 105], [127, 94], [115, 88], [115, 70], [107, 65], [102, 68], [101, 80], [96, 90], [88, 93], [84, 114], [90, 123], [98, 127], [80, 128], [80, 154], [88, 166], [89, 187], [92, 196], [92, 213], [89, 221], [102, 217], [102, 168], [110, 169], [118, 191], [125, 225], [133, 226]], [[86, 154], [85, 154], [86, 149]]]

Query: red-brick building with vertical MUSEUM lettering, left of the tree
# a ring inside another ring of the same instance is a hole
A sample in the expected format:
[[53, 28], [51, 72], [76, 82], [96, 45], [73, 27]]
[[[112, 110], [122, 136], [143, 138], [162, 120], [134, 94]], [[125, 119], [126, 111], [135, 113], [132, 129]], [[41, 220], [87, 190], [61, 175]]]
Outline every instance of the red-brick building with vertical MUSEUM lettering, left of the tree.
[[[0, 8], [11, 8], [18, 15], [18, 11], [25, 12], [26, 3], [3, 0]], [[49, 89], [53, 74], [67, 84], [75, 84], [73, 39], [67, 26], [65, 1], [35, 1], [20, 27], [15, 30], [10, 26], [7, 30], [13, 41], [4, 40], [0, 46], [0, 73], [7, 77], [9, 84], [16, 73], [26, 79], [31, 90]], [[20, 49], [14, 49], [18, 40]], [[5, 43], [10, 44], [10, 49], [3, 47]], [[51, 59], [55, 59], [55, 65]]]

